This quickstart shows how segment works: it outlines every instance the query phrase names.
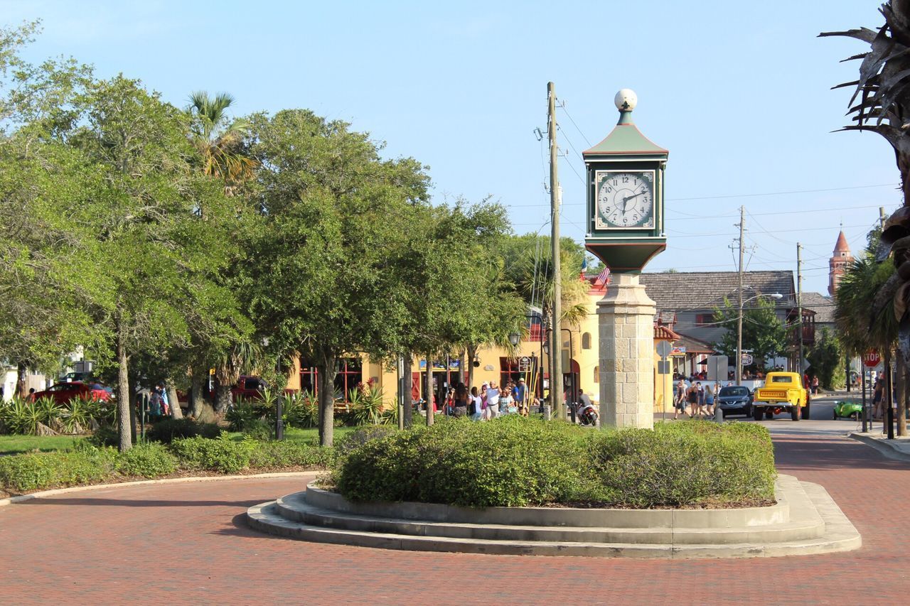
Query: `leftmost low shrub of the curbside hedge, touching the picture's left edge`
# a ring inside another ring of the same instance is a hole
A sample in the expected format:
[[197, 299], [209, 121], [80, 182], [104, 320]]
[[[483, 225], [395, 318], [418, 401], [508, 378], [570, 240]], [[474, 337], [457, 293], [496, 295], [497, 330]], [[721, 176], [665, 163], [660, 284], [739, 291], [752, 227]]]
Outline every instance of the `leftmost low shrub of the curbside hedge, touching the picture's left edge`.
[[114, 472], [116, 452], [80, 445], [73, 450], [0, 457], [0, 485], [13, 492], [91, 484]]

